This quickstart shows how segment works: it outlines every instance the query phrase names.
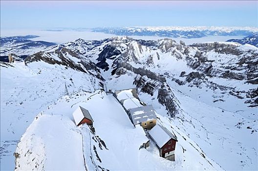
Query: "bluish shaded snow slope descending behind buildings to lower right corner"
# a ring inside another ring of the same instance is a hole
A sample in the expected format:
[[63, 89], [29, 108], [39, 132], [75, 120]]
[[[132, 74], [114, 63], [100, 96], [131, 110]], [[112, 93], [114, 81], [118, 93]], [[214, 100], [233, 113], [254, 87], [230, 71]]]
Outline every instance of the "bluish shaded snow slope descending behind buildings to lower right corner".
[[[133, 82], [129, 81], [129, 78], [133, 77], [130, 74], [125, 74], [118, 78], [111, 77], [112, 79], [109, 79], [107, 89], [117, 87], [125, 89], [135, 86]], [[117, 83], [124, 84], [118, 85]], [[184, 137], [181, 141], [189, 140], [191, 143], [195, 143], [201, 148], [200, 151], [205, 152], [222, 169], [256, 170], [258, 168], [258, 136], [256, 131], [252, 131], [258, 130], [255, 109], [250, 109], [252, 112], [249, 115], [250, 117], [244, 117], [237, 112], [202, 102], [210, 100], [208, 95], [202, 101], [195, 100], [190, 96], [192, 91], [202, 94], [207, 89], [193, 88], [189, 91], [188, 87], [185, 88], [186, 93], [172, 88], [172, 92], [180, 106], [179, 112], [174, 118], [170, 118], [167, 115], [166, 107], [158, 102], [158, 90], [154, 90], [153, 96], [141, 92], [139, 97], [147, 105], [153, 105], [154, 109], [160, 113], [158, 117], [166, 118], [165, 121], [161, 120], [167, 124], [166, 127], [172, 127], [174, 132], [181, 132], [180, 134]], [[197, 98], [199, 99], [199, 96]], [[180, 140], [178, 141], [181, 143]], [[229, 158], [231, 162], [228, 162]]]

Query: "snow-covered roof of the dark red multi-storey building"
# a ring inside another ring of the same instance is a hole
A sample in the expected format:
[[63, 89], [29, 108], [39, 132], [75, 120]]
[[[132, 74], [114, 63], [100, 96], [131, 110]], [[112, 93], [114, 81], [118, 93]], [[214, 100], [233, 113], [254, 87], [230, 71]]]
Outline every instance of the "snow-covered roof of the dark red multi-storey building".
[[176, 136], [174, 136], [167, 128], [158, 124], [148, 133], [159, 148], [162, 148], [171, 138], [177, 141]]

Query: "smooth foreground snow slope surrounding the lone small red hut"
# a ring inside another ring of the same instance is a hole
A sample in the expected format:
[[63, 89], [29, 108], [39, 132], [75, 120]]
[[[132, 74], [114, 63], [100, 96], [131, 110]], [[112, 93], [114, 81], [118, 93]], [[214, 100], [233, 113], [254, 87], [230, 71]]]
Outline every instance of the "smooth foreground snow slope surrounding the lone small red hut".
[[[75, 126], [72, 112], [79, 106], [89, 110], [94, 120], [93, 127]], [[168, 122], [166, 117], [158, 116], [160, 122]], [[170, 126], [167, 125], [172, 131]], [[52, 128], [51, 131], [43, 134], [42, 130], [48, 128]], [[152, 141], [149, 148], [139, 149], [148, 138], [143, 128], [134, 128], [127, 113], [112, 94], [103, 91], [75, 92], [43, 110], [27, 129], [16, 150], [20, 156], [17, 166], [24, 168], [17, 167], [17, 170], [31, 170], [33, 167], [34, 170], [41, 170], [35, 168], [37, 162], [34, 161], [42, 162], [40, 166], [46, 170], [67, 170], [68, 164], [71, 170], [84, 170], [86, 167], [89, 171], [220, 169], [212, 160], [205, 158], [196, 144], [183, 140], [179, 133], [175, 133], [179, 136], [179, 142], [175, 152], [176, 161], [171, 162], [159, 157], [158, 149]], [[35, 139], [41, 140], [42, 150], [33, 148], [38, 143]], [[30, 151], [27, 152], [28, 150]], [[35, 160], [31, 161], [32, 158]], [[24, 162], [29, 164], [24, 165]]]

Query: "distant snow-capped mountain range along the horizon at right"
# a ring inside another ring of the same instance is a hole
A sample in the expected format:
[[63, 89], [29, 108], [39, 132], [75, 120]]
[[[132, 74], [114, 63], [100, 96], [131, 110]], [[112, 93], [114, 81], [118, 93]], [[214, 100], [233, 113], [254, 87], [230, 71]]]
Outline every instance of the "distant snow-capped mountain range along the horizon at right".
[[247, 36], [258, 32], [256, 27], [99, 27], [93, 32], [104, 32], [119, 36], [160, 36], [172, 38], [201, 38], [205, 36]]

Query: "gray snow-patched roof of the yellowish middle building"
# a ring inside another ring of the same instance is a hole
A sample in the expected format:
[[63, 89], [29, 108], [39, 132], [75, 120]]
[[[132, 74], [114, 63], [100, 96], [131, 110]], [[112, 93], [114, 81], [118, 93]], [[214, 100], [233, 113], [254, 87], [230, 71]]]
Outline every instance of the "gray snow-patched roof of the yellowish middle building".
[[129, 109], [131, 119], [134, 125], [140, 124], [150, 119], [156, 119], [156, 114], [151, 105], [143, 107], [135, 107]]

